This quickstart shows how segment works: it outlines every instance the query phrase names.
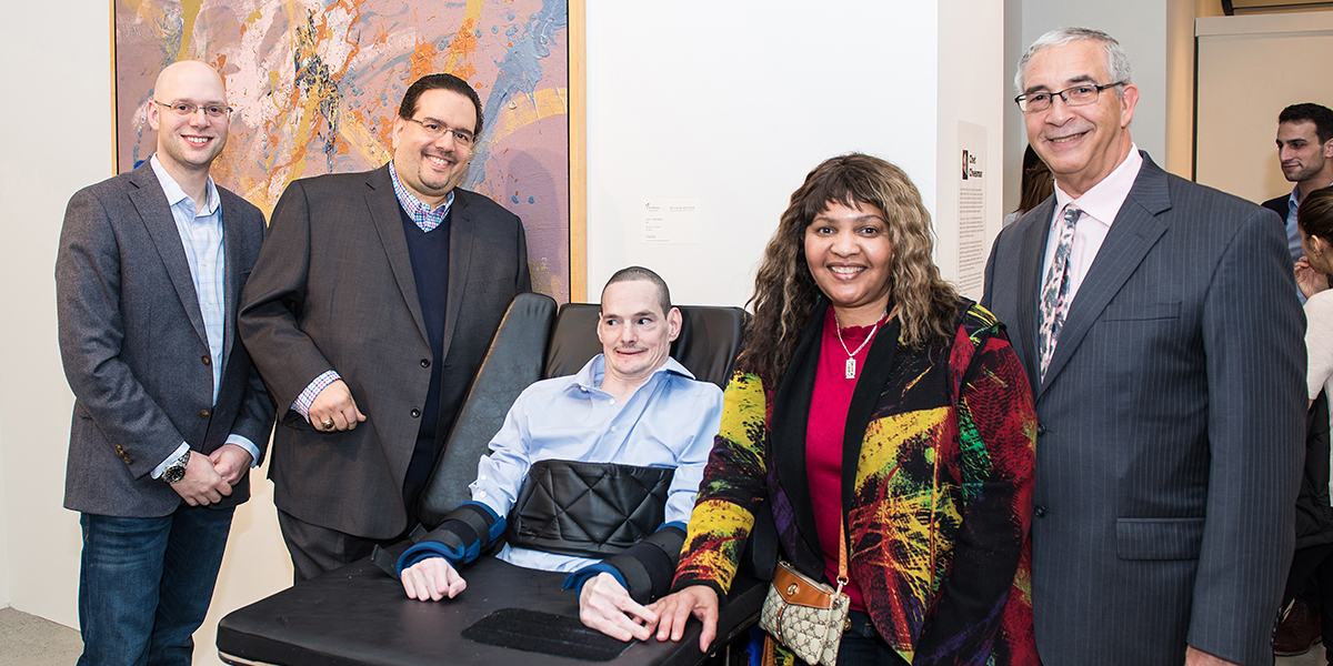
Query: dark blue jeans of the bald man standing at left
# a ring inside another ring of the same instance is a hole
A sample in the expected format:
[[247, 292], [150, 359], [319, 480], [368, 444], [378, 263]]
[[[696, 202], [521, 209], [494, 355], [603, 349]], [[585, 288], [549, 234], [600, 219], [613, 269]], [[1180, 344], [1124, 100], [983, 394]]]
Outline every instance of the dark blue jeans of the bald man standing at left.
[[79, 666], [189, 666], [235, 509], [161, 518], [81, 514]]

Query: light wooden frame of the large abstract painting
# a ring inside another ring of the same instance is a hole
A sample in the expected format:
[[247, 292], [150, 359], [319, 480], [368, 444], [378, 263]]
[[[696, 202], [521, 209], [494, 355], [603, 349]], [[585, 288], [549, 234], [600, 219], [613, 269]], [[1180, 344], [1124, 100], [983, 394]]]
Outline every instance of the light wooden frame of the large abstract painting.
[[[567, 3], [568, 48], [568, 296], [573, 302], [588, 298], [588, 178], [587, 178], [587, 13], [585, 0]], [[121, 119], [119, 117], [119, 51], [116, 0], [108, 1], [111, 32], [111, 119], [112, 119], [112, 173], [120, 173]]]

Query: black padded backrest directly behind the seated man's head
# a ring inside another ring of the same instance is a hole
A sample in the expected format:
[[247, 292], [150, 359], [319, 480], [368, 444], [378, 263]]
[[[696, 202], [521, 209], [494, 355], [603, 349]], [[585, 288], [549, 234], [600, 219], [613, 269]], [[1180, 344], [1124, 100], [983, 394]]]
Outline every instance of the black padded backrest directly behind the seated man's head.
[[[740, 308], [681, 305], [681, 329], [670, 346], [670, 356], [701, 381], [721, 388], [730, 378], [736, 354], [745, 337], [748, 314]], [[551, 334], [547, 368], [543, 377], [563, 377], [579, 372], [589, 358], [601, 353], [597, 341], [597, 313], [601, 306], [571, 302], [560, 306], [556, 329]]]

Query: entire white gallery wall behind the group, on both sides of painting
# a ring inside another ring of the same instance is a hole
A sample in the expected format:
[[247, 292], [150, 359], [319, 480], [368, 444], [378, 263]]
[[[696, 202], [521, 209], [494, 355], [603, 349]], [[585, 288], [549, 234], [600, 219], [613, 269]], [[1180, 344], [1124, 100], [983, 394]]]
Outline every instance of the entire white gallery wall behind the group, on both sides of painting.
[[[79, 525], [61, 498], [73, 398], [53, 265], [69, 196], [112, 174], [108, 12], [105, 0], [27, 3], [0, 25], [0, 607], [69, 626]], [[916, 181], [953, 277], [960, 120], [985, 129], [989, 236], [998, 228], [1001, 3], [588, 0], [587, 13], [592, 296], [613, 270], [644, 264], [678, 302], [742, 304], [792, 190], [849, 151]], [[697, 242], [644, 242], [641, 209], [661, 200], [694, 202]], [[217, 663], [219, 617], [291, 581], [263, 474], [237, 510], [197, 663]]]

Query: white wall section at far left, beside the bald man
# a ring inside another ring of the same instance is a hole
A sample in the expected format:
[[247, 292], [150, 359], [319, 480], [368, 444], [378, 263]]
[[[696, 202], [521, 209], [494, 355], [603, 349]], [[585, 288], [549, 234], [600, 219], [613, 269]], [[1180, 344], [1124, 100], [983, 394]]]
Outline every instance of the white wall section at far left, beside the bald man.
[[69, 196], [111, 174], [108, 12], [20, 3], [0, 24], [0, 606], [64, 625], [79, 518], [61, 509], [73, 396], [56, 348], [56, 241]]

